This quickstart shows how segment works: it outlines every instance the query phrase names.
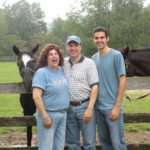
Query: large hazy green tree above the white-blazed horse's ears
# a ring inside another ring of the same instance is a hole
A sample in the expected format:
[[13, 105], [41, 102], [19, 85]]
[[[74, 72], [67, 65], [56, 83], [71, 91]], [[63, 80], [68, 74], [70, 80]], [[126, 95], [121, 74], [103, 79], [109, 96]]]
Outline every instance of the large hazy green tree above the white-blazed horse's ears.
[[13, 55], [13, 45], [31, 47], [32, 35], [46, 32], [43, 18], [40, 5], [30, 5], [26, 0], [0, 9], [0, 56]]

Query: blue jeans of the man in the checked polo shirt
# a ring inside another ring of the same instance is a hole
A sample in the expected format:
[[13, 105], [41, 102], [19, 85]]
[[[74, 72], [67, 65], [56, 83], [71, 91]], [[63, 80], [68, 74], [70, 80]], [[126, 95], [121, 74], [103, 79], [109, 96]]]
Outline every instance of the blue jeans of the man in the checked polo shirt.
[[83, 115], [88, 106], [88, 101], [78, 106], [69, 107], [67, 113], [66, 143], [68, 150], [80, 150], [80, 131], [83, 137], [84, 150], [95, 150], [96, 120], [93, 111], [92, 120], [83, 122]]

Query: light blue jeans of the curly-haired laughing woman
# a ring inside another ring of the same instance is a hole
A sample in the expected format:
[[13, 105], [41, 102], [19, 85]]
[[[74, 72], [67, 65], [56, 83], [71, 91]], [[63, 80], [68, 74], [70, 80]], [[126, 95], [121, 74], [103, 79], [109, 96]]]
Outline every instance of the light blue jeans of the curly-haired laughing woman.
[[47, 112], [52, 119], [51, 128], [43, 125], [43, 119], [37, 111], [38, 149], [63, 150], [65, 145], [67, 112]]

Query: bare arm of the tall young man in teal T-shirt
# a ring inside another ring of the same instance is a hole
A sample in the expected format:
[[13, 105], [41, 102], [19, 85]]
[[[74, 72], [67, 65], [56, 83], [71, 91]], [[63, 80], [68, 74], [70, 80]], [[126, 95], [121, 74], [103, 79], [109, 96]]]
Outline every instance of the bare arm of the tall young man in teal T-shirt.
[[119, 77], [119, 88], [118, 88], [118, 96], [117, 96], [116, 104], [115, 104], [115, 106], [112, 109], [111, 114], [110, 114], [111, 120], [115, 120], [119, 117], [120, 105], [122, 103], [123, 95], [124, 95], [124, 91], [125, 91], [125, 83], [126, 83], [126, 76], [125, 75], [120, 76]]

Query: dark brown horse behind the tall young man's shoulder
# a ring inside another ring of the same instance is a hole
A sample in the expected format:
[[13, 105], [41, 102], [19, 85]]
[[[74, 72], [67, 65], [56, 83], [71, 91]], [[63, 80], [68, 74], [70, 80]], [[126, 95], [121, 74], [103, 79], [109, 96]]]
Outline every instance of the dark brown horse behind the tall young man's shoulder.
[[127, 47], [120, 52], [125, 60], [127, 77], [150, 76], [150, 48], [129, 50]]

